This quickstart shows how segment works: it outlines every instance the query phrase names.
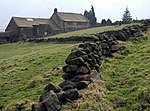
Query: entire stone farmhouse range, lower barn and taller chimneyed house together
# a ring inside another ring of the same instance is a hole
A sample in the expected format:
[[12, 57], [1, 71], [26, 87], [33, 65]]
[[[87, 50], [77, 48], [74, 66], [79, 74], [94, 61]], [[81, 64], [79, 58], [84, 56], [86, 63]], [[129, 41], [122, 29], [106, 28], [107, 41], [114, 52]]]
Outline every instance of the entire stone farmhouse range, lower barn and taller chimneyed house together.
[[[82, 14], [57, 12], [55, 8], [50, 19], [12, 17], [5, 33], [7, 36], [9, 33], [10, 39], [24, 40], [89, 27], [90, 21]], [[2, 35], [4, 36], [4, 33]]]

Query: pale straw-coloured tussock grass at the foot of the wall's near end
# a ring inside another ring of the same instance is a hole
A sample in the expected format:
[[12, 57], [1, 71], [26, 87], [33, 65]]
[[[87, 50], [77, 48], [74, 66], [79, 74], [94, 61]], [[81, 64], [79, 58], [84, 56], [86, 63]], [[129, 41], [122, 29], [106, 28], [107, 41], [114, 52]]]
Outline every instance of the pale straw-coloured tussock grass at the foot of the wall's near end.
[[104, 81], [94, 81], [89, 87], [81, 91], [83, 97], [73, 103], [64, 105], [62, 111], [110, 111], [113, 107], [107, 101]]

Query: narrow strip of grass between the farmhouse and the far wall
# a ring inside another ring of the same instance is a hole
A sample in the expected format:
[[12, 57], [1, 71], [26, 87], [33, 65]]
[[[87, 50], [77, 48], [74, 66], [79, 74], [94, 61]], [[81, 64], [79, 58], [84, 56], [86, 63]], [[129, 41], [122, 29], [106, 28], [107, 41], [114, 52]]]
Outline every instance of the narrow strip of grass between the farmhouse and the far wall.
[[90, 34], [95, 34], [95, 33], [108, 31], [108, 30], [119, 30], [125, 26], [130, 26], [133, 24], [139, 25], [139, 23], [132, 23], [132, 24], [123, 24], [121, 26], [103, 26], [103, 27], [89, 28], [89, 29], [83, 29], [83, 30], [78, 30], [78, 31], [73, 31], [73, 32], [68, 32], [68, 33], [57, 34], [57, 35], [46, 37], [46, 38], [56, 38], [56, 37], [60, 38], [60, 37], [90, 35]]

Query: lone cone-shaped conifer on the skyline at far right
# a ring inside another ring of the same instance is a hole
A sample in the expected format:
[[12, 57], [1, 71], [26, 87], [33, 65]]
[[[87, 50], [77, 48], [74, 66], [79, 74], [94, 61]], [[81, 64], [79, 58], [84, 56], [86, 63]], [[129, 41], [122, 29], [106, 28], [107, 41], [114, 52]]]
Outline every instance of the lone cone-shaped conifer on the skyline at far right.
[[130, 23], [132, 21], [132, 16], [131, 16], [131, 13], [130, 13], [128, 7], [126, 7], [126, 9], [124, 11], [122, 21], [123, 21], [123, 23]]

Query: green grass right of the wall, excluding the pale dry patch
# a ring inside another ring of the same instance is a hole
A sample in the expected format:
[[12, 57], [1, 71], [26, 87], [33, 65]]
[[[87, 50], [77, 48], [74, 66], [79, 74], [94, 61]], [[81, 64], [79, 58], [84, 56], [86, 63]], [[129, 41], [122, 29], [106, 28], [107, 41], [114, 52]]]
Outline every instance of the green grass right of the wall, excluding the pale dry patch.
[[150, 110], [150, 34], [107, 59], [102, 75], [116, 111]]

